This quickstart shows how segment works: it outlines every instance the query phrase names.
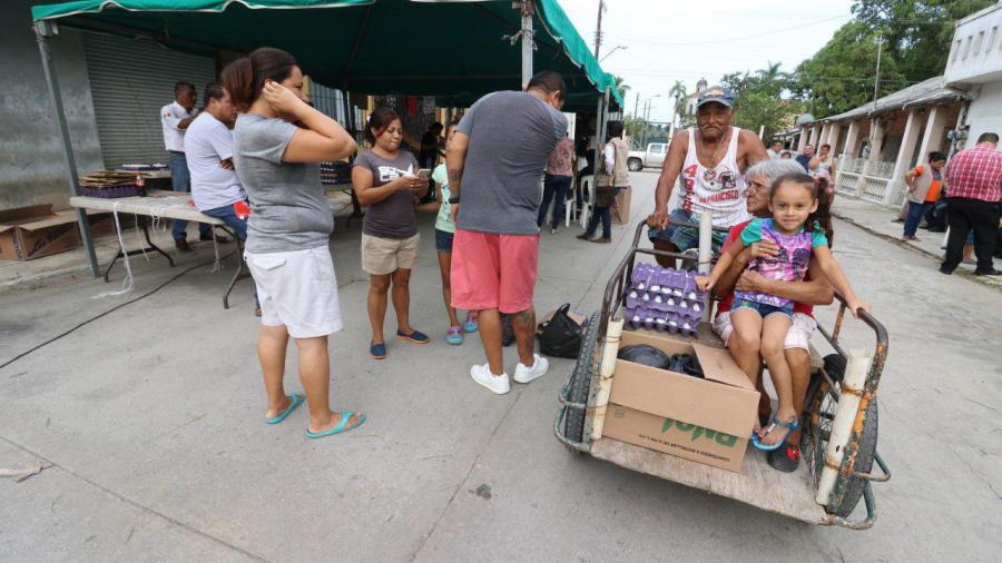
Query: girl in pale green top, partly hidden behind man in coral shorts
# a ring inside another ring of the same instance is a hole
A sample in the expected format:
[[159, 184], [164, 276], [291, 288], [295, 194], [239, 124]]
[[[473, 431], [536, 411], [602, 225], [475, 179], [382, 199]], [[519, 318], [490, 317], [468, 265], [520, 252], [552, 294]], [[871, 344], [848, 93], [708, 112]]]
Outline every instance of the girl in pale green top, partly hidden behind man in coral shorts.
[[[452, 140], [455, 134], [455, 127], [459, 120], [449, 124], [445, 130], [445, 141]], [[445, 164], [442, 162], [432, 172], [432, 180], [438, 186], [438, 198], [431, 204], [424, 204], [419, 207], [422, 211], [438, 211], [435, 218], [435, 250], [439, 251], [439, 269], [442, 273], [442, 297], [445, 298], [445, 313], [449, 315], [449, 328], [445, 330], [445, 342], [449, 344], [462, 344], [463, 332], [477, 332], [477, 313], [469, 312], [466, 320], [463, 323], [462, 329], [459, 325], [459, 318], [455, 316], [455, 308], [452, 306], [452, 286], [450, 285], [450, 271], [452, 270], [452, 237], [455, 234], [455, 223], [452, 221], [452, 206], [449, 205], [449, 198], [452, 194], [449, 191], [449, 175], [445, 171]]]

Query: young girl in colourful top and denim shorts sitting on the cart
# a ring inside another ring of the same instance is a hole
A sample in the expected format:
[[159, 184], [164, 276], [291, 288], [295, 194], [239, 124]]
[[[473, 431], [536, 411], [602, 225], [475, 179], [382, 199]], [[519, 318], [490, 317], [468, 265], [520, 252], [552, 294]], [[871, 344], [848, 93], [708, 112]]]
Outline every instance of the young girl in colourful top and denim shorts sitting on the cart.
[[[870, 310], [870, 305], [856, 297], [832, 256], [828, 243], [829, 218], [826, 213], [818, 213], [818, 199], [828, 197], [826, 184], [823, 180], [815, 181], [805, 174], [789, 174], [777, 178], [769, 196], [773, 218], [753, 219], [741, 231], [737, 244], [730, 245], [720, 256], [709, 277], [697, 278], [700, 289], [713, 289], [720, 275], [727, 271], [734, 258], [746, 246], [768, 238], [779, 246], [779, 254], [769, 259], [756, 258], [748, 265], [748, 269], [774, 280], [799, 282], [804, 279], [807, 263], [814, 256], [832, 285], [845, 297], [854, 316], [859, 308]], [[793, 405], [789, 366], [783, 349], [793, 319], [793, 302], [775, 295], [735, 292], [730, 310], [735, 336], [744, 342], [760, 343], [760, 353], [779, 399], [779, 408], [770, 424], [765, 429], [758, 429], [752, 436], [752, 442], [759, 450], [776, 450], [789, 433], [799, 427], [798, 415]], [[753, 381], [756, 375], [748, 374]]]

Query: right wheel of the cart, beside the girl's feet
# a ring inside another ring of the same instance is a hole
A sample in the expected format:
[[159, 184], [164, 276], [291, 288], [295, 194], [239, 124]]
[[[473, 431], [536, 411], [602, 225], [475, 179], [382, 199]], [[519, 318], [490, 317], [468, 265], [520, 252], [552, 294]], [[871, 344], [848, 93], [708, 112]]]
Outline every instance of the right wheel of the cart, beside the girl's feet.
[[[825, 372], [835, 382], [835, 389], [845, 375], [846, 360], [838, 354], [825, 356]], [[804, 463], [814, 476], [814, 484], [821, 480], [822, 470], [825, 466], [825, 450], [828, 447], [828, 438], [832, 433], [832, 422], [835, 419], [835, 411], [838, 399], [832, 396], [831, 386], [824, 377], [816, 377], [807, 389], [804, 402], [804, 432], [800, 450], [804, 452]], [[877, 442], [877, 403], [874, 399], [863, 421], [863, 435], [859, 439], [859, 450], [856, 453], [854, 471], [870, 473], [873, 468], [873, 456], [876, 453]], [[839, 475], [841, 488], [844, 491], [842, 502], [837, 505], [828, 505], [826, 510], [837, 516], [846, 517], [863, 496], [866, 481], [851, 475]], [[836, 484], [836, 488], [839, 488]]]

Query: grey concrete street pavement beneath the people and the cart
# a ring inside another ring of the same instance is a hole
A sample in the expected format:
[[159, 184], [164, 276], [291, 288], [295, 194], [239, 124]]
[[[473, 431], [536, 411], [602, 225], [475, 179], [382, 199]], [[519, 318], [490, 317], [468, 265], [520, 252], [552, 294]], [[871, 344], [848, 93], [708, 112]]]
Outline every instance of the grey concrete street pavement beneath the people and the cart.
[[[636, 223], [657, 176], [632, 179]], [[552, 425], [571, 360], [505, 396], [474, 385], [478, 337], [442, 339], [432, 223], [422, 218], [411, 302], [433, 342], [392, 340], [376, 363], [361, 225], [338, 221], [346, 327], [330, 344], [332, 393], [335, 407], [369, 415], [344, 436], [307, 441], [305, 409], [262, 422], [248, 282], [235, 308], [219, 299], [232, 269], [197, 268], [0, 369], [0, 467], [53, 464], [21, 483], [0, 480], [0, 561], [996, 560], [999, 289], [942, 276], [932, 257], [836, 223], [836, 257], [891, 334], [878, 448], [894, 476], [875, 485], [874, 529], [851, 532], [570, 454]], [[595, 310], [632, 237], [620, 227], [600, 246], [578, 233], [543, 235], [540, 313], [564, 302]], [[125, 297], [94, 299], [107, 286], [89, 279], [0, 294], [0, 364], [210, 253], [174, 269], [140, 256]], [[826, 325], [833, 317], [834, 307], [819, 314]], [[861, 323], [847, 323], [845, 339], [873, 345]], [[505, 358], [513, 369], [513, 348]], [[299, 389], [294, 359], [289, 391]]]

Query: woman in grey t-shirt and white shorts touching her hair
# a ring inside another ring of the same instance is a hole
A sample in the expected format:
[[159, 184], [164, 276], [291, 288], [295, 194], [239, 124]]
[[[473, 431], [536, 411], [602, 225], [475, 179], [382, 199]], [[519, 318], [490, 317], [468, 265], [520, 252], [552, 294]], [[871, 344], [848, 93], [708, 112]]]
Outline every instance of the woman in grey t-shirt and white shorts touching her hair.
[[257, 49], [227, 66], [222, 82], [239, 111], [234, 165], [250, 199], [244, 258], [261, 299], [257, 355], [268, 395], [265, 422], [281, 423], [303, 403], [302, 393], [286, 395], [283, 385], [292, 337], [310, 407], [306, 436], [350, 431], [365, 415], [332, 412], [328, 404], [327, 336], [342, 328], [342, 320], [327, 247], [334, 218], [320, 162], [347, 157], [355, 141], [310, 107], [303, 72], [285, 51]]

